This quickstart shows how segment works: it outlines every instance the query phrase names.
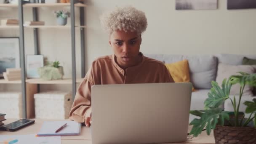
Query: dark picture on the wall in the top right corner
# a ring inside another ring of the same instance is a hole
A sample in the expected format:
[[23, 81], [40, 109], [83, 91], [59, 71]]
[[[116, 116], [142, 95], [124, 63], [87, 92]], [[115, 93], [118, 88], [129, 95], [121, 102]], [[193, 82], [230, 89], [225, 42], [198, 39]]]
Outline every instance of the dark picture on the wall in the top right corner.
[[227, 9], [256, 8], [256, 0], [227, 0]]

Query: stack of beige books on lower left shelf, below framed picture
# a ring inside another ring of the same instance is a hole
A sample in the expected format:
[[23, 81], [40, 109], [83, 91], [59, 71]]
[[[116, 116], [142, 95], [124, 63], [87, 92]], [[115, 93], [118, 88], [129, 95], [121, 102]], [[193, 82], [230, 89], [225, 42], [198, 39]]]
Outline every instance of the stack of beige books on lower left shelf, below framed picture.
[[20, 68], [8, 68], [6, 72], [3, 72], [3, 78], [5, 80], [21, 80], [21, 69]]

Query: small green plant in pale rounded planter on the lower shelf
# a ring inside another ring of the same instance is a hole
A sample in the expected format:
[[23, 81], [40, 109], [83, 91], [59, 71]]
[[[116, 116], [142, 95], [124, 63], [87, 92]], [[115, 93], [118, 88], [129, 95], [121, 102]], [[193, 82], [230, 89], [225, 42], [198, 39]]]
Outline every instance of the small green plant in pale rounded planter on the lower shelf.
[[59, 66], [59, 61], [47, 62], [45, 67], [38, 68], [40, 78], [43, 80], [59, 80], [62, 79], [64, 72], [63, 67]]

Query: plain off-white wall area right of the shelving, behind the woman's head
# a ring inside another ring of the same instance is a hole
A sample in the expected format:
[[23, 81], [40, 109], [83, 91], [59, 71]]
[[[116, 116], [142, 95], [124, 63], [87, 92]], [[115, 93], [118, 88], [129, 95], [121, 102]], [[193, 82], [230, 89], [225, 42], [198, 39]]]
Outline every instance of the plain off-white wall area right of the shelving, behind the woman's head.
[[145, 12], [148, 27], [142, 35], [144, 53], [256, 55], [256, 9], [175, 10], [175, 0], [88, 0], [87, 64], [111, 53], [99, 16], [115, 6], [133, 5]]

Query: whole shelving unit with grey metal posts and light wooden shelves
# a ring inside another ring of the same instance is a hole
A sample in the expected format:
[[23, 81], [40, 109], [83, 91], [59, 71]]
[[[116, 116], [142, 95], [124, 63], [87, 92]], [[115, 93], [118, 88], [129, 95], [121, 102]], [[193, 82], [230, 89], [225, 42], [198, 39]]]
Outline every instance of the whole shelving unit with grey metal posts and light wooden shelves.
[[[34, 0], [35, 2], [35, 0]], [[72, 95], [75, 98], [76, 84], [83, 81], [85, 77], [85, 24], [84, 24], [84, 8], [86, 7], [83, 3], [26, 3], [22, 4], [19, 0], [19, 4], [0, 4], [0, 7], [4, 8], [18, 8], [19, 13], [19, 26], [1, 26], [0, 29], [19, 29], [19, 41], [20, 41], [20, 61], [21, 61], [21, 80], [6, 81], [0, 80], [0, 84], [21, 84], [22, 93], [22, 104], [23, 104], [23, 117], [33, 118], [35, 117], [35, 106], [34, 106], [34, 94], [38, 92], [38, 84], [72, 84]], [[27, 26], [23, 25], [23, 8], [32, 8], [33, 21], [38, 21], [37, 8], [40, 7], [70, 7], [71, 24], [69, 26], [58, 26], [58, 25], [43, 25], [43, 26]], [[80, 8], [80, 25], [75, 26], [75, 7]], [[80, 29], [80, 42], [81, 42], [81, 77], [76, 77], [76, 60], [75, 60], [75, 28]], [[25, 54], [24, 54], [24, 29], [34, 30], [34, 44], [35, 44], [35, 55], [39, 53], [38, 45], [38, 29], [70, 29], [71, 30], [71, 56], [72, 56], [72, 78], [63, 80], [42, 80], [42, 79], [26, 79], [25, 70]]]

